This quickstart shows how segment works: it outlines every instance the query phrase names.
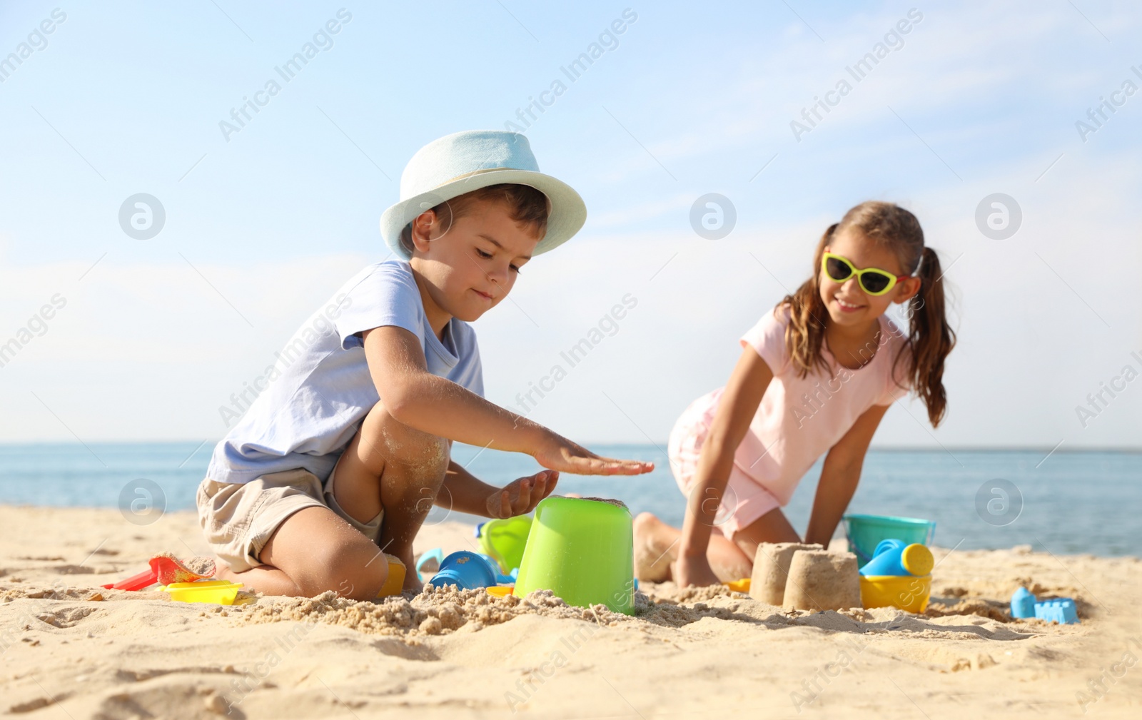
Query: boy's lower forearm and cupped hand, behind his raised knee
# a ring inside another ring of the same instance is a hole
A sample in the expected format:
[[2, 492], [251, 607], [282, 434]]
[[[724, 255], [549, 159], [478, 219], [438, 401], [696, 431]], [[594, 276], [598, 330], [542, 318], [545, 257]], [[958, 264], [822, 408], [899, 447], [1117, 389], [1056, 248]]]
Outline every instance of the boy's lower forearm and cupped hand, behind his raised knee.
[[436, 494], [436, 504], [485, 518], [525, 515], [534, 510], [540, 500], [552, 494], [558, 477], [556, 470], [541, 470], [506, 487], [494, 487], [476, 479], [461, 464], [452, 461], [448, 463], [444, 485]]

